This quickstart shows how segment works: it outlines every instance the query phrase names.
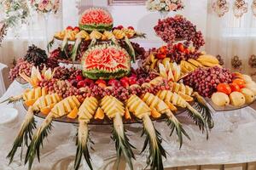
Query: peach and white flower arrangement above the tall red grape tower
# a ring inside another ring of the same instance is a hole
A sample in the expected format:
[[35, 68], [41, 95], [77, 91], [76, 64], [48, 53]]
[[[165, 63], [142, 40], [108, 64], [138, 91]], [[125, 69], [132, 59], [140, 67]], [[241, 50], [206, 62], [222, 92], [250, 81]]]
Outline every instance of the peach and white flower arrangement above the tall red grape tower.
[[148, 0], [146, 7], [149, 11], [169, 12], [184, 8], [182, 0]]

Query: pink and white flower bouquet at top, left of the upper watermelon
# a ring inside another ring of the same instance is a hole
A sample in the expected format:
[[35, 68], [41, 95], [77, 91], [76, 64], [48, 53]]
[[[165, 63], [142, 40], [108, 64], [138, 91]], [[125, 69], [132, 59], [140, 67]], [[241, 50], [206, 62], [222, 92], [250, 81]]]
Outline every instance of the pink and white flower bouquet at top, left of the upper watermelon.
[[31, 0], [31, 4], [38, 13], [56, 14], [60, 7], [60, 0]]

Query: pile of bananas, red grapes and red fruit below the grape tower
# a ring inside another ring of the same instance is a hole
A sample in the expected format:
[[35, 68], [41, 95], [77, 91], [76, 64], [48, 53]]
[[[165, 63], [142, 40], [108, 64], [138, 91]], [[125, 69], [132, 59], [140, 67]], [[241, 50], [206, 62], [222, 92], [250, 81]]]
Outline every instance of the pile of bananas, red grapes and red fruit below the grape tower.
[[201, 67], [221, 67], [216, 57], [203, 52], [195, 52], [195, 49], [185, 48], [181, 42], [173, 46], [162, 46], [156, 50], [151, 50], [146, 59], [143, 60], [143, 66], [157, 70], [160, 63], [166, 66], [173, 62], [181, 66], [183, 75]]

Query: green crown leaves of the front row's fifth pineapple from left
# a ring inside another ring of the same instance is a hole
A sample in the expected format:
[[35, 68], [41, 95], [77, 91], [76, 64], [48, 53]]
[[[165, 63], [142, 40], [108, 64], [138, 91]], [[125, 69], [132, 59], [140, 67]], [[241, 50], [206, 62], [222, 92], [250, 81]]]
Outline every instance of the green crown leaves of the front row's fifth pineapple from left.
[[[166, 150], [162, 147], [161, 142], [162, 138], [160, 137], [160, 133], [154, 128], [155, 139], [151, 137], [152, 134], [148, 132], [148, 130], [144, 127], [143, 133], [141, 136], [146, 135], [146, 139], [143, 144], [143, 153], [146, 150], [147, 146], [149, 146], [149, 155], [147, 158], [147, 167], [150, 165], [151, 170], [163, 170], [163, 162], [162, 156], [166, 158]], [[145, 168], [147, 168], [145, 167]]]

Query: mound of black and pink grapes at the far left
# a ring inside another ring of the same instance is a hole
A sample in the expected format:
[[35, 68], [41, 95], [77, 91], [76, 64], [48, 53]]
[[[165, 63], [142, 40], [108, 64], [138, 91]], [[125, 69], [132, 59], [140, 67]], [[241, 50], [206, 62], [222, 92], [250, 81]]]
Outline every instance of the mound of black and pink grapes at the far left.
[[29, 46], [26, 55], [18, 59], [15, 66], [10, 69], [9, 78], [15, 80], [15, 78], [20, 77], [20, 74], [26, 74], [30, 77], [33, 66], [38, 66], [39, 70], [43, 70], [44, 67], [53, 69], [59, 66], [59, 63], [57, 59], [48, 58], [43, 49], [32, 45]]

